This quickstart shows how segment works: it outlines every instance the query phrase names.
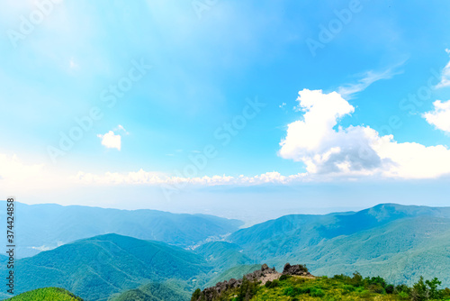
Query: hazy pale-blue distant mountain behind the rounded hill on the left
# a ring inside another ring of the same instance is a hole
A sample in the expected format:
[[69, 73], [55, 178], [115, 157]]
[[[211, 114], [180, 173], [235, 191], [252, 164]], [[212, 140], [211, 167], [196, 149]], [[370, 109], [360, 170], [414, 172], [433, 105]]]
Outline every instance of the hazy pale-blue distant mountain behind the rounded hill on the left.
[[[0, 215], [6, 205], [0, 202]], [[156, 210], [118, 210], [79, 205], [25, 205], [15, 227], [17, 256], [29, 257], [79, 239], [118, 233], [142, 240], [188, 247], [232, 233], [242, 222], [205, 214], [171, 214]], [[19, 215], [18, 215], [19, 216]], [[4, 237], [0, 238], [0, 242]], [[4, 243], [5, 244], [5, 243]]]

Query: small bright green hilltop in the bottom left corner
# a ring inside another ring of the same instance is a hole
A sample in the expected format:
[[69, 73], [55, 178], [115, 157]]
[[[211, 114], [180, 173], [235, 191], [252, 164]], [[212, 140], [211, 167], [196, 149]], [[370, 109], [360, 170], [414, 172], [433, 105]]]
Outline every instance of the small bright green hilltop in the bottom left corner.
[[6, 299], [7, 301], [83, 301], [64, 288], [44, 287]]

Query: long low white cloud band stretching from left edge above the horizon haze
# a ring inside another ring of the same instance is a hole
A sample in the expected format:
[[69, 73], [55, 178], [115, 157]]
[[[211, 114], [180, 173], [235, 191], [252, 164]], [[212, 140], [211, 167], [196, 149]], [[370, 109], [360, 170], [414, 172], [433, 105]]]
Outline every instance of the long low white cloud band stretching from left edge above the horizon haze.
[[44, 164], [25, 164], [15, 155], [0, 154], [0, 188], [8, 190], [10, 194], [21, 194], [26, 190], [31, 195], [38, 196], [55, 187], [67, 189], [77, 186], [115, 186], [115, 185], [148, 185], [170, 186], [174, 188], [191, 186], [253, 186], [262, 184], [289, 184], [294, 181], [309, 181], [306, 173], [283, 176], [279, 172], [266, 172], [261, 175], [246, 176], [204, 176], [186, 178], [169, 176], [163, 172], [145, 171], [139, 169], [131, 172], [105, 172], [94, 174], [78, 171], [69, 175], [61, 170], [49, 169]]

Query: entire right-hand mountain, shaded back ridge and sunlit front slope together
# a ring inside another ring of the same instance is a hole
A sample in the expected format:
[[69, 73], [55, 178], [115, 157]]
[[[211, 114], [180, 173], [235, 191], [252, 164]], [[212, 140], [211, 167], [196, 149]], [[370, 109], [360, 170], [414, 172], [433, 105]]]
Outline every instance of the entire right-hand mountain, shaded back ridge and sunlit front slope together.
[[250, 259], [278, 269], [302, 261], [316, 275], [358, 270], [408, 284], [436, 275], [450, 286], [449, 212], [389, 204], [358, 213], [288, 215], [239, 230], [230, 240]]

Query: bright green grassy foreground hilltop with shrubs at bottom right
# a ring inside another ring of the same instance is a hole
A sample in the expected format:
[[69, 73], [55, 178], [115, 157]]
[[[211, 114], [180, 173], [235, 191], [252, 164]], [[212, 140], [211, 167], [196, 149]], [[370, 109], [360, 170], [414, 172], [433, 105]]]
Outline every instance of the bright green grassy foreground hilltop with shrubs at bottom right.
[[359, 273], [353, 277], [336, 275], [333, 278], [283, 273], [281, 277], [268, 281], [244, 277], [238, 286], [213, 289], [214, 294], [211, 294], [211, 287], [203, 291], [198, 288], [193, 292], [191, 301], [450, 300], [450, 289], [442, 289], [440, 285], [437, 278], [419, 278], [417, 283], [408, 287], [388, 284], [381, 277], [363, 278]]

